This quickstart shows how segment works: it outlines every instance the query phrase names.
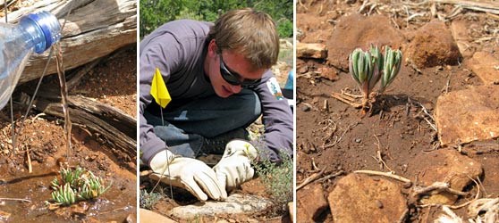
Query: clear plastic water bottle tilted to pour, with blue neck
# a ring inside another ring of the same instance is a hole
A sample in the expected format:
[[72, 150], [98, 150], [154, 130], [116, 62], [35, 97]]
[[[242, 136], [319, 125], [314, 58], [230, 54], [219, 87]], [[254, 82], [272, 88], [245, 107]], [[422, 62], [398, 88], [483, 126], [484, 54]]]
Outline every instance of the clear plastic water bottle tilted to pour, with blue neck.
[[0, 23], [0, 109], [13, 94], [26, 62], [61, 38], [61, 25], [50, 12], [30, 13], [18, 24]]

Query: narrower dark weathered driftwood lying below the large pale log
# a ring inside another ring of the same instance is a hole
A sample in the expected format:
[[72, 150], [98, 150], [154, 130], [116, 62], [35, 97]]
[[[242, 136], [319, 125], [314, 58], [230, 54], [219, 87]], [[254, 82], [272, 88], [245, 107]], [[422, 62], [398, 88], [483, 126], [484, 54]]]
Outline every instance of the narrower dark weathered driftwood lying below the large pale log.
[[[59, 96], [38, 96], [35, 108], [63, 119], [63, 105]], [[87, 128], [97, 139], [108, 145], [121, 161], [135, 161], [137, 122], [123, 111], [96, 100], [80, 96], [68, 96], [69, 112], [72, 123]]]

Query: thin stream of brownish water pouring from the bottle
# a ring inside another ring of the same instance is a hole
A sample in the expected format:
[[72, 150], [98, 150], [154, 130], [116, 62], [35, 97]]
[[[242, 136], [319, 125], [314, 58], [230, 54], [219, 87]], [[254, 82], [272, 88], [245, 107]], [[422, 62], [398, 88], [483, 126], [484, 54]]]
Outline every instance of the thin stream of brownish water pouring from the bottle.
[[63, 50], [60, 43], [53, 45], [55, 52], [55, 63], [57, 64], [57, 75], [59, 76], [59, 83], [61, 85], [61, 97], [63, 98], [63, 114], [64, 114], [64, 134], [66, 135], [66, 159], [69, 161], [72, 155], [71, 145], [71, 119], [68, 109], [68, 87], [66, 86], [66, 77], [64, 74], [63, 65]]

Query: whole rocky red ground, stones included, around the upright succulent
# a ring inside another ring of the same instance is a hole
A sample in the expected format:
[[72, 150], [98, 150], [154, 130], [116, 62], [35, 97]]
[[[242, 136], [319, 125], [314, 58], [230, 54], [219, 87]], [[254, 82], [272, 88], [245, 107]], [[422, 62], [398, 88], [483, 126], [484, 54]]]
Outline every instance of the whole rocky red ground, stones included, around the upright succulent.
[[[298, 222], [485, 218], [479, 199], [499, 196], [497, 4], [444, 2], [460, 1], [298, 2], [298, 40], [317, 44], [297, 59]], [[348, 55], [371, 44], [403, 63], [363, 115], [332, 95], [359, 95]]]

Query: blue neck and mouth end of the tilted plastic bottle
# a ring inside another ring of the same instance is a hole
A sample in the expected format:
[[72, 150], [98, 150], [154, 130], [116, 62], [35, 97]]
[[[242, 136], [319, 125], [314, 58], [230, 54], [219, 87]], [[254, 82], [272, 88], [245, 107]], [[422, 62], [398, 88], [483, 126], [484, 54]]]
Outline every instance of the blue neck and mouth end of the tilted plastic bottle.
[[37, 49], [36, 50], [37, 54], [43, 53], [51, 45], [53, 45], [55, 42], [61, 39], [61, 24], [59, 24], [59, 21], [57, 20], [54, 14], [47, 11], [41, 11], [36, 13], [30, 13], [25, 18], [37, 24], [38, 28], [42, 30], [43, 35], [45, 37], [46, 41], [45, 48]]

